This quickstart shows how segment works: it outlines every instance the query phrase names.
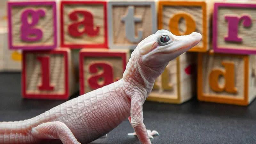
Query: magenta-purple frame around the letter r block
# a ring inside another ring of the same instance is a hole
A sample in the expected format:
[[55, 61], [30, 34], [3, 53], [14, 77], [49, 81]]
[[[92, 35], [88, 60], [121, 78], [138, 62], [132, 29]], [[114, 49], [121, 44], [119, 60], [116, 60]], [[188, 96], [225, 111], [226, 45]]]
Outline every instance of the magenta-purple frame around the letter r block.
[[[232, 8], [256, 8], [256, 4], [230, 4], [230, 3], [215, 3], [214, 10], [213, 10], [213, 32], [212, 32], [212, 47], [214, 52], [220, 53], [235, 53], [235, 54], [256, 54], [256, 46], [255, 50], [248, 50], [248, 49], [234, 49], [232, 47], [218, 47], [218, 8], [219, 7], [232, 7]], [[224, 37], [223, 37], [224, 38]]]

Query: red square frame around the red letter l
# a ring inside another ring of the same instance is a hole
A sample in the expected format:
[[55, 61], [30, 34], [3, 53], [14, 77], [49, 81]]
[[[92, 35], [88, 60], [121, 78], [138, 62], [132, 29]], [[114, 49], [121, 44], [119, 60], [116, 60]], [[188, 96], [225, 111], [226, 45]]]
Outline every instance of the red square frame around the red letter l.
[[[47, 53], [47, 54], [62, 54], [64, 55], [65, 62], [65, 92], [64, 94], [28, 94], [26, 93], [27, 81], [26, 81], [26, 54], [28, 53]], [[68, 89], [68, 52], [66, 50], [53, 50], [53, 51], [23, 51], [22, 53], [22, 72], [21, 72], [21, 91], [23, 98], [27, 99], [55, 99], [55, 100], [67, 100], [69, 98]]]

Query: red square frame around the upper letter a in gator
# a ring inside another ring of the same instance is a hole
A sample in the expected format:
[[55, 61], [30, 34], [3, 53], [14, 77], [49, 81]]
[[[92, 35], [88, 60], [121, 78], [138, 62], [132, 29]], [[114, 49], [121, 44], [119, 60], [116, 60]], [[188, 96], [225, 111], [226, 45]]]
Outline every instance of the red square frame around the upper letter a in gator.
[[[65, 4], [102, 4], [104, 8], [104, 32], [105, 43], [103, 44], [65, 44], [64, 43], [64, 5]], [[80, 48], [108, 48], [108, 22], [107, 22], [107, 2], [104, 1], [61, 1], [60, 3], [60, 44], [61, 47], [69, 47], [71, 49]]]

